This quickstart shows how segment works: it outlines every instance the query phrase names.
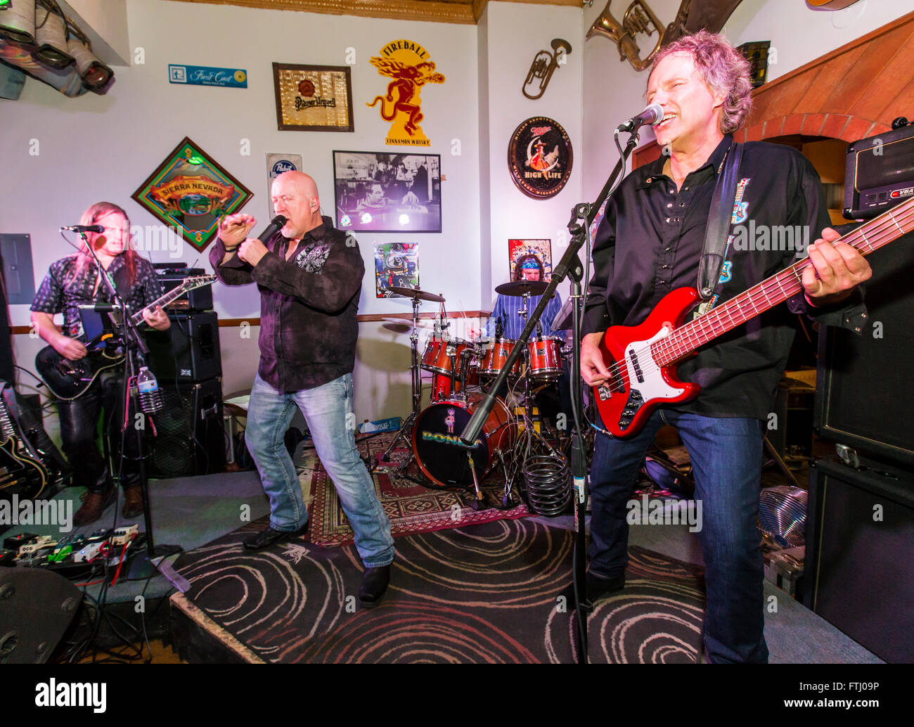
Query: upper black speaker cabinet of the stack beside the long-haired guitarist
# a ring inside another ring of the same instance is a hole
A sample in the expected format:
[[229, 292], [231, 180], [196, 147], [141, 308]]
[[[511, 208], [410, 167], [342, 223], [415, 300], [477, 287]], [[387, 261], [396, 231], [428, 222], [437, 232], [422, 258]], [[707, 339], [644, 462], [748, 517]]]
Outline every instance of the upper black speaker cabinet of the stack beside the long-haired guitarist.
[[165, 383], [193, 383], [222, 376], [219, 319], [206, 313], [169, 313], [167, 331], [149, 331], [149, 368]]

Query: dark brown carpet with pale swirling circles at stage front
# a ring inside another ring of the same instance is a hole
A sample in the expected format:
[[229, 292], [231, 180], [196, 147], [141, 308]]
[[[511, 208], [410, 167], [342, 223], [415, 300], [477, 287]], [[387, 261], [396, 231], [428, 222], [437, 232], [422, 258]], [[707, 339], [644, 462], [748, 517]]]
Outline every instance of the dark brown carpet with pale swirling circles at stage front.
[[[573, 534], [534, 519], [408, 535], [384, 602], [358, 608], [353, 546], [250, 552], [251, 523], [182, 554], [186, 598], [258, 658], [285, 663], [571, 663]], [[695, 662], [700, 569], [632, 549], [622, 593], [590, 616], [593, 662]], [[219, 632], [222, 632], [219, 635]], [[229, 636], [230, 635], [230, 636]]]

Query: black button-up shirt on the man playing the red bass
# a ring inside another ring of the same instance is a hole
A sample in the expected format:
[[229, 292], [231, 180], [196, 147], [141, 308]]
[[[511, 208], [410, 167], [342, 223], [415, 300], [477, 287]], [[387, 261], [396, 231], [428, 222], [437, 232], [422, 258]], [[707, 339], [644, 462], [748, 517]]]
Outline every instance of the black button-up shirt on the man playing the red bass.
[[[731, 143], [732, 137], [726, 136], [705, 165], [686, 176], [678, 190], [664, 175], [665, 156], [635, 169], [622, 181], [606, 205], [593, 243], [594, 274], [585, 305], [584, 334], [614, 325], [636, 326], [665, 294], [696, 287], [708, 210]], [[795, 236], [799, 240], [808, 235], [812, 242], [830, 226], [819, 176], [791, 147], [745, 144], [739, 180], [734, 220], [749, 230], [753, 224], [756, 231], [789, 226], [800, 233]], [[731, 226], [731, 234], [735, 230]], [[761, 238], [759, 241], [764, 244]], [[795, 247], [799, 247], [796, 242]], [[804, 248], [799, 252], [736, 248], [728, 246], [728, 264], [717, 285], [716, 305], [806, 254]], [[696, 357], [680, 364], [679, 378], [700, 384], [702, 390], [677, 409], [706, 416], [765, 419], [790, 353], [790, 312], [859, 329], [866, 312], [861, 300], [857, 291], [839, 306], [816, 308], [801, 293], [788, 305], [775, 306], [711, 341]]]

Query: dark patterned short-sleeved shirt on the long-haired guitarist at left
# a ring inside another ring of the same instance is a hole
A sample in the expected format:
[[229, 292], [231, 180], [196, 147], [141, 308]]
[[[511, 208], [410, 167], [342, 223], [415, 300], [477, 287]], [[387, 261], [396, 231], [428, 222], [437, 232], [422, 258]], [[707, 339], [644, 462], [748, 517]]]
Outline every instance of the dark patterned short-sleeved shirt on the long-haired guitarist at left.
[[[86, 343], [80, 320], [80, 305], [111, 303], [112, 295], [103, 281], [95, 289], [97, 267], [90, 261], [82, 271], [78, 262], [82, 253], [74, 252], [57, 262], [51, 263], [48, 274], [41, 281], [41, 286], [32, 301], [31, 310], [37, 313], [55, 315], [63, 314], [63, 334], [70, 338], [79, 338]], [[122, 296], [132, 313], [153, 303], [162, 295], [162, 286], [155, 276], [153, 263], [136, 256], [136, 280], [133, 285], [127, 283], [127, 266], [123, 254], [115, 257], [108, 266], [108, 273], [114, 279], [118, 294]]]

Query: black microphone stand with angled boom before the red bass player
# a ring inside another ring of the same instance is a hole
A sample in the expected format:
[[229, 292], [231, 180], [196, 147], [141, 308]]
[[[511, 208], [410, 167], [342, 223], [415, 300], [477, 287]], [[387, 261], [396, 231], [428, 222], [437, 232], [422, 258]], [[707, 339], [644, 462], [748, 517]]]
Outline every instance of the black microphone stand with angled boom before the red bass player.
[[[587, 508], [588, 480], [587, 458], [584, 453], [584, 438], [582, 434], [583, 429], [581, 424], [581, 412], [583, 411], [583, 390], [580, 380], [580, 311], [583, 310], [584, 303], [581, 282], [584, 277], [584, 268], [580, 262], [578, 253], [584, 246], [584, 242], [587, 241], [588, 228], [590, 228], [590, 224], [597, 216], [597, 212], [600, 210], [600, 205], [602, 205], [603, 201], [610, 196], [611, 190], [614, 188], [617, 182], [622, 179], [622, 173], [625, 170], [625, 165], [628, 161], [628, 157], [632, 154], [632, 149], [638, 145], [639, 137], [636, 130], [629, 137], [628, 143], [625, 144], [624, 150], [622, 150], [622, 147], [619, 146], [618, 134], [619, 132], [617, 131], [615, 133], [616, 146], [619, 147], [620, 151], [622, 152], [619, 162], [612, 170], [609, 179], [606, 180], [606, 184], [600, 190], [600, 197], [597, 198], [597, 200], [591, 205], [582, 203], [575, 205], [575, 207], [572, 209], [568, 226], [569, 232], [571, 233], [571, 241], [569, 243], [568, 250], [565, 251], [565, 254], [562, 255], [561, 260], [553, 268], [552, 280], [549, 281], [546, 290], [543, 292], [542, 297], [539, 299], [539, 304], [536, 308], [534, 308], [533, 313], [530, 314], [530, 317], [527, 319], [524, 330], [521, 331], [520, 337], [517, 343], [515, 343], [515, 347], [511, 349], [511, 353], [505, 361], [505, 366], [502, 367], [502, 370], [498, 373], [498, 376], [496, 376], [495, 380], [489, 385], [489, 388], [486, 390], [483, 399], [479, 402], [479, 407], [475, 412], [473, 412], [473, 416], [470, 418], [470, 421], [467, 422], [466, 427], [463, 429], [463, 432], [460, 435], [461, 442], [466, 446], [472, 446], [473, 442], [476, 441], [476, 437], [482, 430], [484, 422], [488, 418], [489, 412], [492, 411], [492, 407], [494, 406], [495, 391], [499, 390], [502, 387], [508, 378], [508, 371], [510, 371], [515, 365], [515, 361], [520, 358], [522, 351], [526, 350], [526, 344], [530, 338], [530, 334], [533, 333], [533, 330], [536, 328], [537, 322], [539, 321], [540, 316], [543, 315], [543, 311], [546, 310], [549, 299], [552, 297], [552, 294], [555, 293], [558, 284], [564, 281], [566, 277], [569, 277], [571, 279], [572, 287], [571, 298], [575, 302], [572, 306], [573, 350], [571, 355], [571, 412], [574, 418], [574, 430], [572, 432], [571, 438], [571, 469], [572, 476], [574, 477], [575, 488], [575, 544], [572, 557], [572, 573], [574, 578], [573, 586], [575, 614], [577, 616], [578, 625], [577, 632], [579, 664], [586, 664], [588, 660], [587, 612], [592, 610], [592, 606], [586, 603], [587, 593], [581, 593], [584, 588], [584, 583], [586, 582], [587, 571], [587, 549], [585, 545], [585, 512]], [[580, 225], [578, 222], [579, 219], [584, 219], [586, 224]]]

